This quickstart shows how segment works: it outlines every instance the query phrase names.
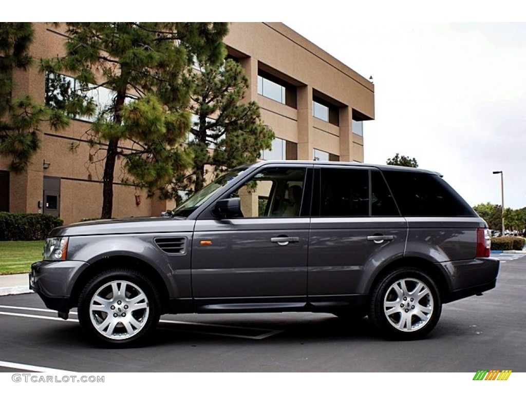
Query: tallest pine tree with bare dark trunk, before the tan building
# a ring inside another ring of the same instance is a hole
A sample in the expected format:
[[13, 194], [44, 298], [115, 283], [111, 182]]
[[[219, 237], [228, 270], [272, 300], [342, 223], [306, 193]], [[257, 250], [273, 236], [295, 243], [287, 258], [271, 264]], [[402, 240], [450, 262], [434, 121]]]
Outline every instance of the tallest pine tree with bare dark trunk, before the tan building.
[[[104, 161], [101, 217], [112, 216], [117, 157], [133, 177], [129, 181], [149, 191], [190, 165], [178, 144], [190, 128], [185, 109], [191, 80], [185, 70], [194, 58], [221, 61], [227, 32], [226, 23], [66, 24], [66, 55], [44, 61], [42, 69], [75, 75], [77, 91], [53, 101], [94, 117], [88, 140], [103, 156], [94, 160]], [[95, 110], [89, 91], [100, 88], [110, 89], [112, 97]]]

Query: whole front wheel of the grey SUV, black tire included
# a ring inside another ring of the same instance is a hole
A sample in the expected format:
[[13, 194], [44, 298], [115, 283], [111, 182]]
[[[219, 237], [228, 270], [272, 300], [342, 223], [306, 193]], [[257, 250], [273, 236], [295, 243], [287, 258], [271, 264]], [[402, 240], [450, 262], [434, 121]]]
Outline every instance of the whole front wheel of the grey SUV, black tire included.
[[159, 317], [159, 295], [154, 285], [131, 269], [115, 268], [100, 273], [80, 294], [80, 326], [98, 345], [144, 344]]

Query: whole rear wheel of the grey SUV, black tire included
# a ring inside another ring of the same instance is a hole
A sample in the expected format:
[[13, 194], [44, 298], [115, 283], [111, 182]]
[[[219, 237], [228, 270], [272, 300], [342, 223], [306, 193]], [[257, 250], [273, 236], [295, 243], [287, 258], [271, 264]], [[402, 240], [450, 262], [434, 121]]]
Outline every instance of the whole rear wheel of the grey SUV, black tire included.
[[388, 339], [422, 339], [437, 325], [441, 312], [437, 286], [420, 269], [394, 269], [372, 289], [369, 320]]

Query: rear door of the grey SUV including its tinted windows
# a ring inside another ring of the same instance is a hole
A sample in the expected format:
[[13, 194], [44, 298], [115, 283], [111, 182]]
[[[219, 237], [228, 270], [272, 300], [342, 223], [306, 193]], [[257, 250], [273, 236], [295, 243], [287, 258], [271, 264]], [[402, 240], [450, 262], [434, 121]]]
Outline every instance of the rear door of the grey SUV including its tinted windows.
[[357, 305], [375, 268], [403, 255], [406, 220], [377, 169], [320, 165], [314, 183], [309, 303]]

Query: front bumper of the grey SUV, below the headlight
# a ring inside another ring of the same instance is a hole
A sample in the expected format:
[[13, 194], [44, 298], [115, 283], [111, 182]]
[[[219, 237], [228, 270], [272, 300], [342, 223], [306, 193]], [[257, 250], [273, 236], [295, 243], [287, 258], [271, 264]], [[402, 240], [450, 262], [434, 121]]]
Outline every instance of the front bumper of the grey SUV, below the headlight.
[[87, 266], [82, 261], [39, 261], [31, 265], [29, 289], [37, 293], [46, 307], [67, 312], [76, 306], [71, 299], [75, 279]]

